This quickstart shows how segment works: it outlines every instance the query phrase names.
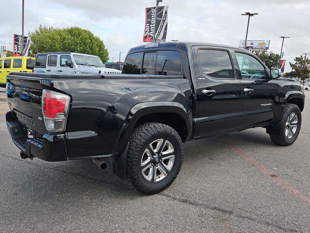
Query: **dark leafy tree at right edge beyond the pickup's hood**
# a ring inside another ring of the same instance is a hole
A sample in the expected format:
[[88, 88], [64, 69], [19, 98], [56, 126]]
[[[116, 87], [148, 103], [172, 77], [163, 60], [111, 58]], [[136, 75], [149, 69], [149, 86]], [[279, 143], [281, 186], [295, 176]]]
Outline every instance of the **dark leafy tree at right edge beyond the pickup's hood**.
[[310, 77], [310, 59], [300, 56], [295, 57], [294, 62], [294, 64], [290, 62], [292, 71], [287, 72], [285, 77], [299, 78], [301, 81], [303, 81], [304, 84], [306, 79], [309, 79]]

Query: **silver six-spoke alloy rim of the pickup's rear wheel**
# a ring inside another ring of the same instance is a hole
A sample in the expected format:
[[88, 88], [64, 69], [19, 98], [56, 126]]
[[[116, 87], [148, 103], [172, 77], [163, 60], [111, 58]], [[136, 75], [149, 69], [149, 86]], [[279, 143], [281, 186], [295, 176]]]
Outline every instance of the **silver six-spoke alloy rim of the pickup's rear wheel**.
[[174, 164], [174, 148], [167, 139], [156, 139], [144, 150], [141, 158], [141, 172], [149, 182], [163, 180]]

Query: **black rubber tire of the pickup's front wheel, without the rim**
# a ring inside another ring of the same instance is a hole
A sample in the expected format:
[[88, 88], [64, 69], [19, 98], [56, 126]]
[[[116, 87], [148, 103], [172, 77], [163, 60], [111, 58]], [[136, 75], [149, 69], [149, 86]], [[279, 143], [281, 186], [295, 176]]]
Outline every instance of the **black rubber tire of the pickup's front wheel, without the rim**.
[[[297, 129], [292, 138], [287, 138], [285, 135], [286, 121], [288, 117], [295, 113], [297, 115]], [[283, 111], [282, 120], [280, 120], [275, 126], [271, 128], [269, 133], [270, 139], [273, 143], [279, 146], [289, 146], [292, 145], [298, 137], [301, 127], [301, 112], [296, 104], [288, 103]]]

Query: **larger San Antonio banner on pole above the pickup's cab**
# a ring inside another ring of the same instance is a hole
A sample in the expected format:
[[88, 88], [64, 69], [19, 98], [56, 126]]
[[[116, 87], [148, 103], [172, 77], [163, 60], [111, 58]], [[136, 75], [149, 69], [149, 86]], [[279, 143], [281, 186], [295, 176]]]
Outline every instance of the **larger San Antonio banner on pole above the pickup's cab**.
[[167, 28], [168, 6], [145, 8], [143, 42], [166, 41]]

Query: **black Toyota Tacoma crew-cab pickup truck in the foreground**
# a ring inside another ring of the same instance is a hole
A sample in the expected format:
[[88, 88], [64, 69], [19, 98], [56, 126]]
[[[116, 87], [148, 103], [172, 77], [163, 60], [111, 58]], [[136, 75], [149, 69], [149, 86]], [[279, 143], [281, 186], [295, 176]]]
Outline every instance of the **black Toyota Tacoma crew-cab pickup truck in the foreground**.
[[123, 73], [10, 73], [6, 123], [21, 157], [111, 157], [117, 176], [154, 194], [176, 178], [183, 142], [264, 127], [288, 146], [299, 134], [301, 86], [247, 50], [151, 43], [128, 52]]

